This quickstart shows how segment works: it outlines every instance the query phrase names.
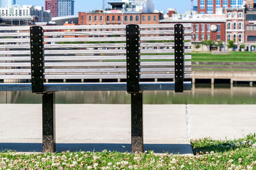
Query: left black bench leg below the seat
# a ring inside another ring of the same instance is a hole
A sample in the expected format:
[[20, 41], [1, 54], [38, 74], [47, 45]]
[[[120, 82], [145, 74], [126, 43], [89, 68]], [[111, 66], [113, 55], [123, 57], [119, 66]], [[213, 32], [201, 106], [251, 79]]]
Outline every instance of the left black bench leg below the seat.
[[55, 94], [43, 94], [43, 152], [56, 152]]

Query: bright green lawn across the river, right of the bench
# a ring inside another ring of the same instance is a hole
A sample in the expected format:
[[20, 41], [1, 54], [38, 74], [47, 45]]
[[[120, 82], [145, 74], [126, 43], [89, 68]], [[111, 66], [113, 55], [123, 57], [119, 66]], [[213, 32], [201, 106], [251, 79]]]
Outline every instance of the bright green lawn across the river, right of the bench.
[[256, 62], [254, 52], [230, 52], [229, 55], [211, 53], [192, 53], [193, 62]]

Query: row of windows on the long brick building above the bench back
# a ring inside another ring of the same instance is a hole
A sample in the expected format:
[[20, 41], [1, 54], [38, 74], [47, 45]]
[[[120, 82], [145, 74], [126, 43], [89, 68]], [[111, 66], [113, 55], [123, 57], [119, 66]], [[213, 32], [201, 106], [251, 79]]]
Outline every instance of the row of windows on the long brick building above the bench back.
[[[83, 16], [82, 16], [82, 20], [84, 20], [84, 17], [83, 17]], [[109, 20], [110, 20], [110, 17], [107, 16], [107, 21], [109, 21]], [[115, 20], [116, 20], [116, 16], [113, 15], [113, 16], [112, 16], [112, 21], [115, 21]], [[121, 20], [121, 17], [118, 16], [118, 17], [117, 17], [117, 21], [120, 21], [120, 20]], [[128, 20], [127, 15], [125, 15], [124, 20], [125, 20], [125, 21]], [[133, 18], [132, 15], [129, 17], [129, 20], [130, 20], [130, 21], [133, 21], [133, 20], [134, 20], [134, 18]], [[135, 20], [136, 20], [136, 21], [139, 20], [139, 16], [138, 16], [138, 15], [136, 15]], [[143, 21], [146, 20], [146, 16], [145, 16], [145, 15], [142, 16], [142, 20], [143, 20]], [[147, 20], [148, 20], [148, 21], [151, 21], [151, 16], [150, 16], [150, 15], [148, 15]], [[89, 16], [89, 21], [92, 21], [92, 16]], [[95, 22], [98, 21], [98, 16], [94, 16], [94, 21], [95, 21]], [[100, 16], [100, 21], [103, 21], [103, 16]], [[154, 15], [154, 21], [157, 21], [157, 16], [156, 16], [156, 15]]]

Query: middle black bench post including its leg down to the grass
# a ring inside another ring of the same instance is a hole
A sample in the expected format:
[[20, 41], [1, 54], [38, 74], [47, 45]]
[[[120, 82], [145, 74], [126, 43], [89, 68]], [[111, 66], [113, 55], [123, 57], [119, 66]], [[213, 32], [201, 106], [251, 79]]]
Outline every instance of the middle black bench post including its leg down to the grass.
[[143, 152], [143, 95], [140, 91], [139, 25], [126, 26], [127, 92], [131, 94], [132, 153]]

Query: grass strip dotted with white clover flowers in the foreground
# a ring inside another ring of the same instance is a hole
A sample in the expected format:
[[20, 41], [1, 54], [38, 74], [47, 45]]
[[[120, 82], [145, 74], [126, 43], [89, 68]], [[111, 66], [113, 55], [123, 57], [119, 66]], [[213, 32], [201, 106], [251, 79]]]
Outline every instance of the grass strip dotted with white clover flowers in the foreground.
[[255, 169], [255, 134], [243, 139], [192, 140], [195, 155], [153, 152], [0, 153], [0, 169]]

